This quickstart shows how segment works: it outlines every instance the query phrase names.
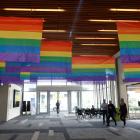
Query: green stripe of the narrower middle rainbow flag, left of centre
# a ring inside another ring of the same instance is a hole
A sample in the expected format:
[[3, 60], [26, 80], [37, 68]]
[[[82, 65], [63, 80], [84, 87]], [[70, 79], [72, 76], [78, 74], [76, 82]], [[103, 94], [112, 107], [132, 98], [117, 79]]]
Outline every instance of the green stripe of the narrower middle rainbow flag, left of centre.
[[49, 62], [71, 62], [71, 58], [68, 57], [47, 57], [41, 56], [41, 62], [49, 61]]

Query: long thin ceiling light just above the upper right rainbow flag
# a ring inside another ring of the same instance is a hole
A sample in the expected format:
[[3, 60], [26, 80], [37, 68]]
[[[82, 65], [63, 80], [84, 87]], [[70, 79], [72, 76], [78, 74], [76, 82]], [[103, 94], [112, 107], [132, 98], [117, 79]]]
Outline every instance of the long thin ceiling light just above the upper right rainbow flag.
[[89, 19], [90, 22], [140, 22], [139, 20]]

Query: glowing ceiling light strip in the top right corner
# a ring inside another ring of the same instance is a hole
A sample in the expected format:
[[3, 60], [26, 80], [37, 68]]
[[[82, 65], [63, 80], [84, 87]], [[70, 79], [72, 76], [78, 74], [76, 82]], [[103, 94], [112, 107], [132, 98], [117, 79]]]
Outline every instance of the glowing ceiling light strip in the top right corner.
[[140, 9], [123, 9], [123, 8], [110, 8], [113, 12], [140, 12]]

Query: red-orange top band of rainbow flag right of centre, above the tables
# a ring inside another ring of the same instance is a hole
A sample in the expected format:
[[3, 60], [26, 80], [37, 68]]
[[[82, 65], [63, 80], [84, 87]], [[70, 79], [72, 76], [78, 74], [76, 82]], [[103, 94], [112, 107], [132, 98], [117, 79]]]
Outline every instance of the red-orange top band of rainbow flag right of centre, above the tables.
[[108, 56], [77, 56], [72, 58], [73, 64], [112, 64], [114, 63], [114, 58]]

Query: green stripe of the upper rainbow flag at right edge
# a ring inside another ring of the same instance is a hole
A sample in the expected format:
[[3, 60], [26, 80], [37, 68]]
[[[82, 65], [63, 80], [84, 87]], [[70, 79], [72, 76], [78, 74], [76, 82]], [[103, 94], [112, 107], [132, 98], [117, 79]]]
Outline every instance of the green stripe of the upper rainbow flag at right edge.
[[120, 41], [120, 48], [140, 48], [140, 41]]

